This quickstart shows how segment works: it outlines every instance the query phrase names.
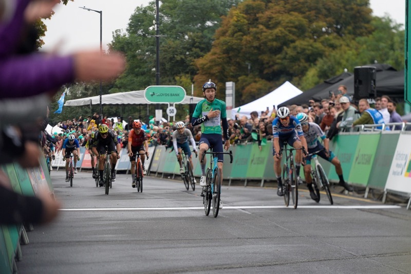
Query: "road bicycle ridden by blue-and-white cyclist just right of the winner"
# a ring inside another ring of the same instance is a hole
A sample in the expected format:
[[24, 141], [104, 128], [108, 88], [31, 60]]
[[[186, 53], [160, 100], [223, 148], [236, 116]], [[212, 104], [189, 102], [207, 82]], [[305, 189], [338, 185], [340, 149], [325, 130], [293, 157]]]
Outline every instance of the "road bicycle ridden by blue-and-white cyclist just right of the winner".
[[[305, 148], [301, 149], [294, 149], [291, 147], [290, 149], [287, 149], [288, 142], [284, 142], [283, 148], [280, 149], [279, 155], [283, 154], [283, 151], [286, 154], [286, 162], [284, 163], [283, 166], [283, 191], [284, 191], [284, 204], [286, 207], [290, 204], [290, 192], [291, 192], [291, 197], [292, 197], [292, 203], [294, 206], [294, 209], [297, 208], [298, 205], [298, 182], [297, 182], [297, 175], [295, 173], [295, 166], [294, 166], [294, 156], [292, 152], [294, 150], [303, 150], [303, 153], [305, 153]], [[288, 163], [287, 163], [288, 161]]]

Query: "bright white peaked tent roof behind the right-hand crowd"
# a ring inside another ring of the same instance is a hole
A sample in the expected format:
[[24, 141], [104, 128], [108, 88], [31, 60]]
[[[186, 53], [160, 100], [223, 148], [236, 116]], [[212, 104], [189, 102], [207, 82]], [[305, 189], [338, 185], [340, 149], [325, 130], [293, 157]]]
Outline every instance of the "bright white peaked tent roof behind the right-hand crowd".
[[274, 89], [271, 93], [248, 104], [233, 108], [231, 111], [231, 118], [235, 119], [236, 114], [238, 114], [240, 117], [245, 115], [250, 118], [250, 113], [253, 111], [258, 112], [258, 115], [260, 115], [260, 113], [262, 111], [265, 111], [267, 107], [271, 113], [273, 110], [273, 105], [277, 107], [279, 104], [288, 101], [289, 99], [294, 98], [295, 96], [302, 93], [303, 92], [300, 89], [287, 81], [281, 86]]

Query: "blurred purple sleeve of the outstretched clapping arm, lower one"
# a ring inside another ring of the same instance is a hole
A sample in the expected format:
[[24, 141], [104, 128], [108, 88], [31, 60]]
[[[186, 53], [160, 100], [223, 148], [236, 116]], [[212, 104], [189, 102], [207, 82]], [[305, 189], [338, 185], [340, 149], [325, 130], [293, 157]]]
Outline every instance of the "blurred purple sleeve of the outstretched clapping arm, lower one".
[[38, 95], [73, 80], [71, 56], [31, 54], [0, 61], [0, 98]]

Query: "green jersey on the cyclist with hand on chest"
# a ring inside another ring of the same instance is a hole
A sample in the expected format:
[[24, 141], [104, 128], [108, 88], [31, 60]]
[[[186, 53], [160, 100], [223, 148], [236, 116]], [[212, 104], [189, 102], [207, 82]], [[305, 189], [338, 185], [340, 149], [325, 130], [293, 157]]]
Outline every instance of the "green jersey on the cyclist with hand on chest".
[[214, 99], [214, 101], [210, 103], [207, 99], [203, 99], [197, 103], [196, 108], [194, 109], [193, 117], [200, 118], [206, 116], [211, 111], [211, 108], [213, 108], [213, 111], [219, 110], [220, 116], [210, 118], [210, 120], [203, 122], [201, 124], [201, 133], [221, 134], [221, 118], [227, 118], [226, 102]]

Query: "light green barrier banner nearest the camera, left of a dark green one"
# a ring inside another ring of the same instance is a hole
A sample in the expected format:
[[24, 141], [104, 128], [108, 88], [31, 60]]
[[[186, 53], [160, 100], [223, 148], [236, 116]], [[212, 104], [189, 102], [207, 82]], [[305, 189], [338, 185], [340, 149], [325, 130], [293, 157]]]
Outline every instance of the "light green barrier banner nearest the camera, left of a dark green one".
[[360, 134], [348, 178], [349, 182], [363, 185], [364, 187], [367, 186], [380, 136], [381, 133], [379, 132], [364, 132]]

